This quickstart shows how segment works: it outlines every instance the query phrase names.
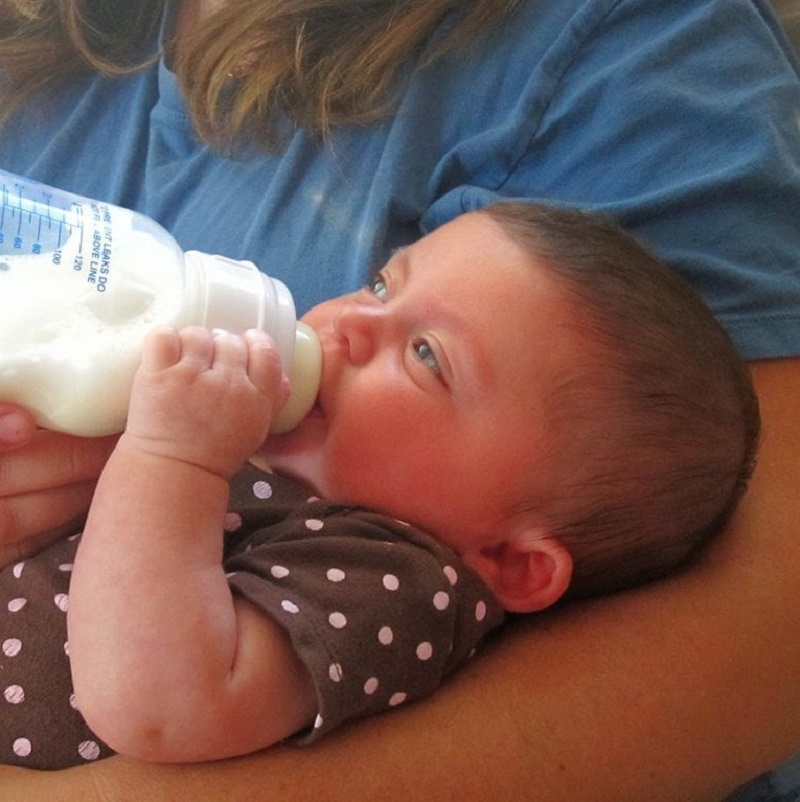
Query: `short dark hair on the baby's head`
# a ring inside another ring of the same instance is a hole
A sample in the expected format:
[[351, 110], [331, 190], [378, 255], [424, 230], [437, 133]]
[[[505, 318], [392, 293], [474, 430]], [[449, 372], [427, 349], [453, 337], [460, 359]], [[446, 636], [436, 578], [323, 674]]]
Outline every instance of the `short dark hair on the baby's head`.
[[676, 570], [723, 529], [753, 471], [747, 366], [688, 282], [617, 224], [530, 203], [482, 213], [566, 289], [566, 325], [585, 344], [546, 401], [547, 484], [531, 503], [572, 555], [565, 598]]

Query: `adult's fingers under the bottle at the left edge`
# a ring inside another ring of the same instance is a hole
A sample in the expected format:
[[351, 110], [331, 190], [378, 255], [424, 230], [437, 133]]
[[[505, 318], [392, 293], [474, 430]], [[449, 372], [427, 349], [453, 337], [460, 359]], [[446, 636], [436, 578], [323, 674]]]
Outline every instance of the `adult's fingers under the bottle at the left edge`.
[[37, 429], [25, 410], [0, 403], [0, 565], [77, 525], [115, 442]]

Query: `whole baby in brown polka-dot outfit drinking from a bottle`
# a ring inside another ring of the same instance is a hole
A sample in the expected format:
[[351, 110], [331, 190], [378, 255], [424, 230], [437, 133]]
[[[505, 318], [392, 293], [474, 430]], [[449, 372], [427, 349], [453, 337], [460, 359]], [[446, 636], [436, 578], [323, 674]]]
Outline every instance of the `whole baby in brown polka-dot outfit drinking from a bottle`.
[[505, 613], [677, 569], [752, 470], [727, 336], [603, 220], [468, 213], [304, 319], [318, 403], [270, 437], [265, 335], [149, 336], [82, 534], [0, 575], [0, 760], [314, 740], [429, 693]]

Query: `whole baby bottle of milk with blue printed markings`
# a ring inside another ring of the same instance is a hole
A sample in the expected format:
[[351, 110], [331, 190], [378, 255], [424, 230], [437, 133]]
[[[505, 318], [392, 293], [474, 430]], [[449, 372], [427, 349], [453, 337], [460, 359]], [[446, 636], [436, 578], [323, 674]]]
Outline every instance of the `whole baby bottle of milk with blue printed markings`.
[[319, 341], [281, 281], [252, 262], [184, 253], [128, 209], [3, 171], [0, 190], [0, 399], [49, 429], [120, 432], [147, 331], [201, 325], [273, 337], [292, 387], [273, 431], [311, 409]]

